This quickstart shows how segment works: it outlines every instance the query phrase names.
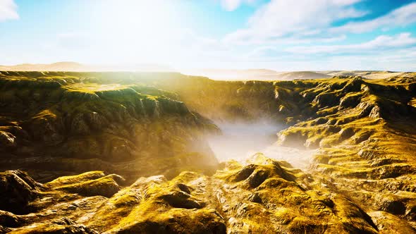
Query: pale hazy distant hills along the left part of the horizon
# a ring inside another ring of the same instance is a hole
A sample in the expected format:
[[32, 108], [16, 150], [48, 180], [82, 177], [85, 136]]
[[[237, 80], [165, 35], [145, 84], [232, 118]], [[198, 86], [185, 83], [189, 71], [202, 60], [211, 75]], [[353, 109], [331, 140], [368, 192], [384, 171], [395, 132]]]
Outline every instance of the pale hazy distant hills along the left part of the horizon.
[[141, 72], [172, 72], [169, 66], [159, 64], [132, 64], [132, 65], [87, 65], [76, 62], [57, 63], [23, 63], [13, 66], [1, 66], [6, 71], [141, 71]]

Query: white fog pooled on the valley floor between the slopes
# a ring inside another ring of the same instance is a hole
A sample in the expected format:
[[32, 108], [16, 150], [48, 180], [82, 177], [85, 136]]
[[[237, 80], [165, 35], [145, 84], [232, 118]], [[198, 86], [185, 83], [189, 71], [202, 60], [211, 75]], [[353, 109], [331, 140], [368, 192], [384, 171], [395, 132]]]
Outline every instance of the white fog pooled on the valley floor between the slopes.
[[288, 161], [295, 168], [306, 169], [314, 150], [282, 147], [276, 144], [283, 125], [260, 121], [258, 123], [216, 123], [223, 135], [209, 138], [209, 146], [216, 158], [221, 161], [235, 159], [244, 161], [257, 152], [271, 159]]

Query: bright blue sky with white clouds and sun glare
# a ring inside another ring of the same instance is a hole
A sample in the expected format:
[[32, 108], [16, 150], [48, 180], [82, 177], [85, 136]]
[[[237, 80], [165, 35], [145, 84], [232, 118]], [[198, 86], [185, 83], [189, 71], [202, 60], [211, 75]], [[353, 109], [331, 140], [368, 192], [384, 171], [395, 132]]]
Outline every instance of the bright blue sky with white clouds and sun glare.
[[0, 64], [416, 71], [416, 1], [0, 0]]

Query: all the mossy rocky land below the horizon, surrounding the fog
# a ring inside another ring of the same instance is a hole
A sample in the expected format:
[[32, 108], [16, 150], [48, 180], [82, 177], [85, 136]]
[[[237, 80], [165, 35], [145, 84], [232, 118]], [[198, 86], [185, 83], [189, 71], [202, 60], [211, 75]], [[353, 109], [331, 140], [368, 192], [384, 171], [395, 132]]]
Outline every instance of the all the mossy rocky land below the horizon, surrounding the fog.
[[[415, 73], [0, 76], [4, 233], [416, 232]], [[286, 125], [276, 144], [317, 149], [307, 170], [218, 164], [212, 121], [260, 119]]]

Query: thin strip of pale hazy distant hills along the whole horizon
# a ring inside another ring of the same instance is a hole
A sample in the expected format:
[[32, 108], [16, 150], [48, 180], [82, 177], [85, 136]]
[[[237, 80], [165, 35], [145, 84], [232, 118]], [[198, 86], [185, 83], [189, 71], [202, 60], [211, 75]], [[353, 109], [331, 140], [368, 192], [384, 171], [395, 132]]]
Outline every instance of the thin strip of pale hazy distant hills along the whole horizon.
[[322, 70], [322, 71], [276, 71], [271, 69], [191, 69], [176, 70], [161, 64], [133, 65], [87, 65], [76, 62], [23, 63], [14, 66], [1, 66], [5, 71], [137, 71], [137, 72], [181, 72], [185, 75], [199, 75], [213, 80], [307, 80], [331, 78], [336, 75], [359, 75], [368, 79], [384, 79], [397, 75], [406, 76], [409, 72], [381, 70]]

